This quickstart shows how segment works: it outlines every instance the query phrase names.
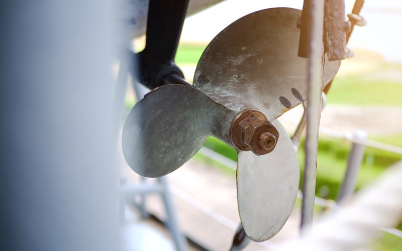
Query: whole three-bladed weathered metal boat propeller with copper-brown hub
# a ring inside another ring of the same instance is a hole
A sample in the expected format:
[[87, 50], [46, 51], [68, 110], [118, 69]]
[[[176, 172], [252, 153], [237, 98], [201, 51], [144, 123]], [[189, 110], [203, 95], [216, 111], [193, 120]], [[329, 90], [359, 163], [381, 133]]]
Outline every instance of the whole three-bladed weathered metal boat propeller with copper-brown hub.
[[[255, 241], [281, 229], [298, 190], [297, 156], [276, 118], [307, 98], [308, 59], [297, 56], [300, 15], [274, 8], [235, 21], [205, 49], [193, 86], [152, 90], [123, 129], [124, 157], [145, 177], [173, 172], [208, 136], [234, 147], [240, 219]], [[326, 84], [340, 61], [324, 60]]]

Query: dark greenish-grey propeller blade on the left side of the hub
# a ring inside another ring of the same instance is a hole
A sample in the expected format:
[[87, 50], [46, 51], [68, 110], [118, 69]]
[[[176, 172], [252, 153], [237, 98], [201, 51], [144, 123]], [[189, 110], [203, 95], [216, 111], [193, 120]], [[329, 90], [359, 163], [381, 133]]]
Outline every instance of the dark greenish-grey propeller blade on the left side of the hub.
[[207, 136], [229, 142], [236, 113], [191, 86], [165, 85], [131, 110], [122, 147], [129, 166], [146, 177], [166, 175], [191, 158]]

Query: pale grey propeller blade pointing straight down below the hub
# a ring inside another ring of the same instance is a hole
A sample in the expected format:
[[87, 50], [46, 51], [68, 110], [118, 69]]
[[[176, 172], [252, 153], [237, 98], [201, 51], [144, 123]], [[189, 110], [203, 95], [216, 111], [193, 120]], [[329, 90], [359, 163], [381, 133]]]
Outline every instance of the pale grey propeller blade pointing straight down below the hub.
[[281, 124], [275, 149], [263, 156], [239, 152], [237, 198], [239, 214], [246, 234], [255, 241], [275, 235], [286, 222], [298, 190], [297, 156]]

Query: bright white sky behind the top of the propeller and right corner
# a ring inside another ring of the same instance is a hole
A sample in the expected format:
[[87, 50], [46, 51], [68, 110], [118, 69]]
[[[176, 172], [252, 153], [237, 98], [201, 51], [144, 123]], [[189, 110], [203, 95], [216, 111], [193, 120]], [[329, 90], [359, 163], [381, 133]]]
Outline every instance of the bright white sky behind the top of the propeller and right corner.
[[[353, 5], [354, 1], [346, 0], [347, 14]], [[181, 39], [208, 43], [235, 20], [273, 7], [302, 9], [303, 0], [226, 0], [187, 18]], [[361, 15], [368, 24], [355, 27], [349, 46], [376, 51], [389, 61], [402, 62], [402, 0], [366, 0]]]

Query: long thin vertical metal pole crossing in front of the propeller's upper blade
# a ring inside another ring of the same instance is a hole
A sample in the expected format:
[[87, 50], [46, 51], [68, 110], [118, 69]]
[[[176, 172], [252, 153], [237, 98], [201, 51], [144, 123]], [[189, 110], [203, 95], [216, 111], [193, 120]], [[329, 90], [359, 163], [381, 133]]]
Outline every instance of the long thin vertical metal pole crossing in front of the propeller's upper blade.
[[[305, 0], [306, 2], [307, 0]], [[306, 3], [305, 3], [306, 4]], [[308, 76], [307, 131], [305, 143], [305, 172], [303, 182], [302, 232], [313, 222], [317, 175], [318, 132], [321, 118], [321, 92], [323, 70], [324, 1], [312, 0], [308, 19], [310, 25], [310, 57]]]

